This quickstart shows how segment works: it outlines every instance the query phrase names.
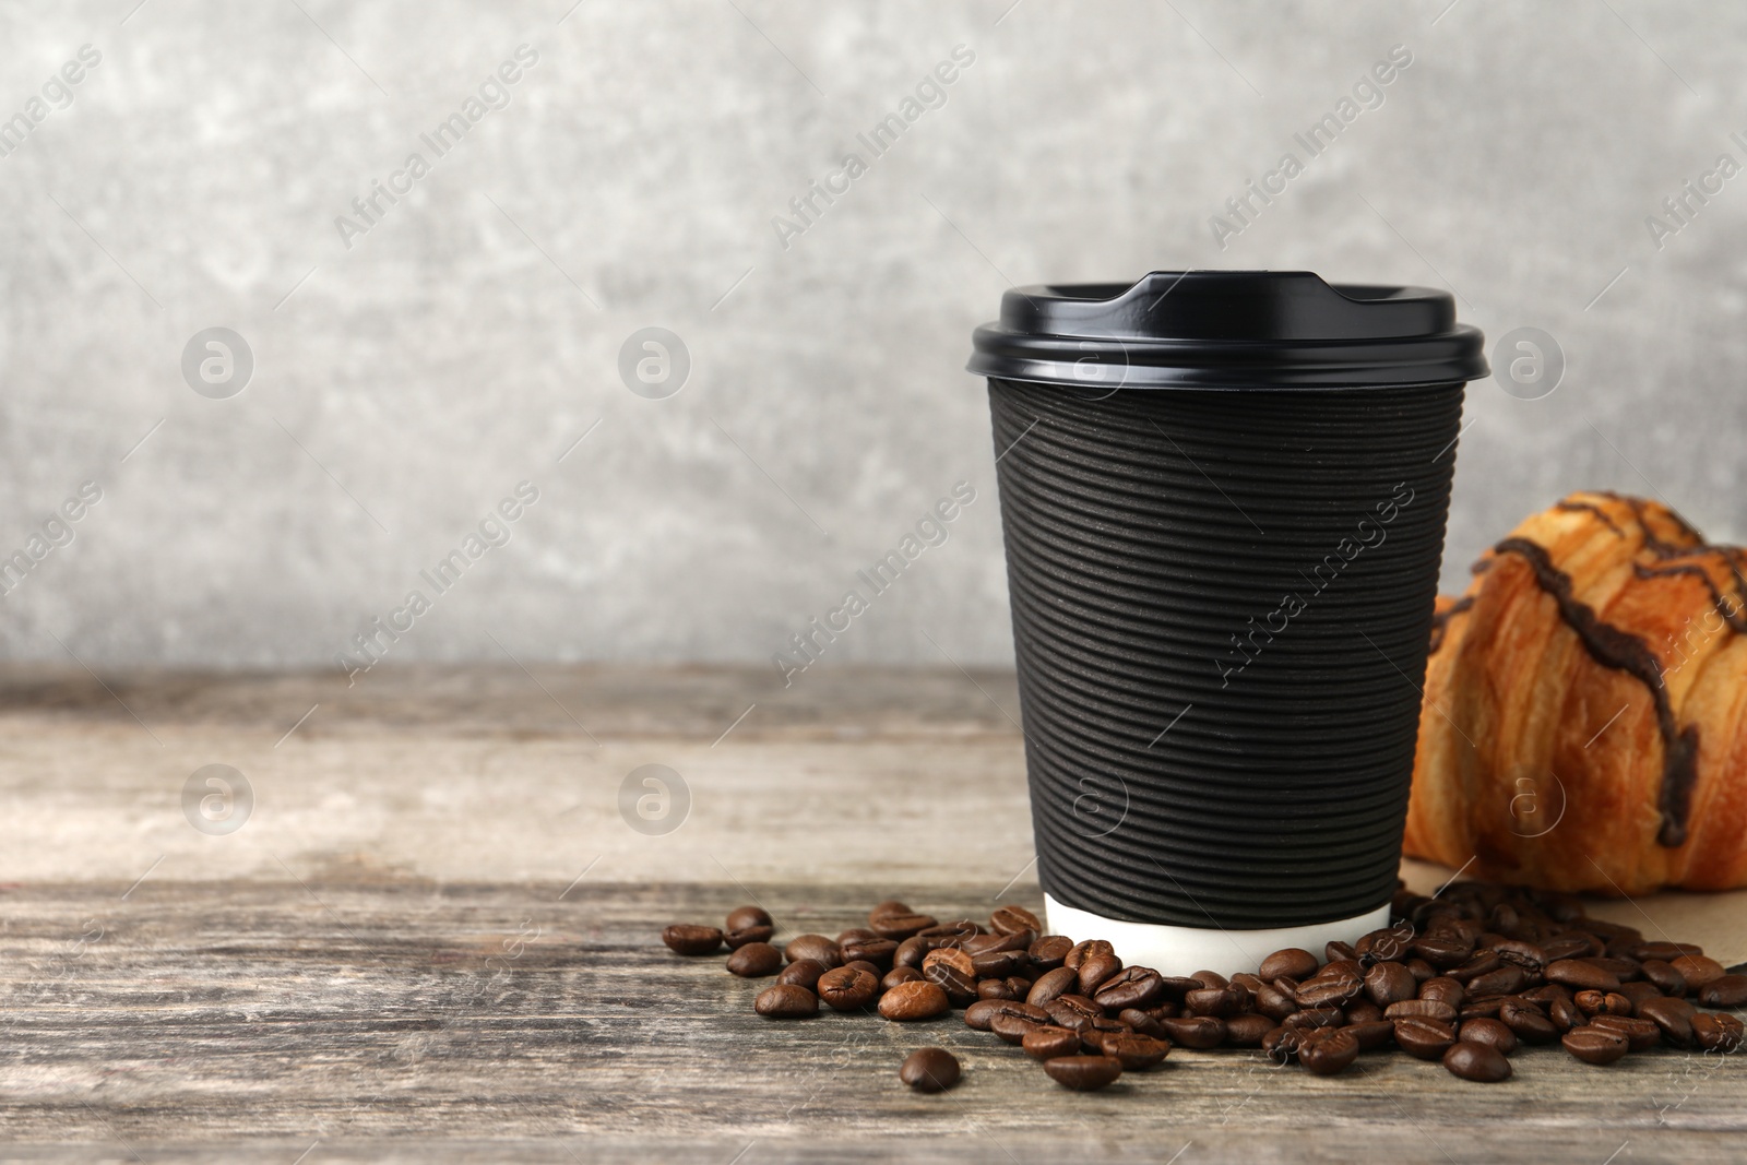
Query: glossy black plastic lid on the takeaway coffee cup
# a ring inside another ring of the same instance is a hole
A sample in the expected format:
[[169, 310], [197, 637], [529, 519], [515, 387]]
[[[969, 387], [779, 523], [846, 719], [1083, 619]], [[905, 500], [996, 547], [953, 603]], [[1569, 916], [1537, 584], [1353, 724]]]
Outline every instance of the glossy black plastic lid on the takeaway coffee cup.
[[1382, 388], [1487, 376], [1448, 292], [1312, 271], [1155, 271], [1134, 286], [1024, 286], [968, 369], [1069, 388]]

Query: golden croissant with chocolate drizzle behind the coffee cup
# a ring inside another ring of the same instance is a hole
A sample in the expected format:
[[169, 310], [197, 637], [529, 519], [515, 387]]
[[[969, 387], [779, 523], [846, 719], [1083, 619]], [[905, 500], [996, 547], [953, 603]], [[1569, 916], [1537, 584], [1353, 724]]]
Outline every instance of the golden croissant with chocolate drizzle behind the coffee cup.
[[1440, 597], [1403, 847], [1640, 894], [1747, 884], [1747, 580], [1674, 510], [1571, 494]]

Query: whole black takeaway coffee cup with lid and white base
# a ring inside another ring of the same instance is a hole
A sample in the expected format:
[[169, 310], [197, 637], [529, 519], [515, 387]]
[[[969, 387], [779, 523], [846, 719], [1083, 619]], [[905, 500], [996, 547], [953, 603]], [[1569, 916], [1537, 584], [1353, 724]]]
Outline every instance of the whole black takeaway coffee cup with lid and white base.
[[1008, 292], [970, 370], [1052, 929], [1188, 975], [1385, 926], [1480, 332], [1153, 272]]

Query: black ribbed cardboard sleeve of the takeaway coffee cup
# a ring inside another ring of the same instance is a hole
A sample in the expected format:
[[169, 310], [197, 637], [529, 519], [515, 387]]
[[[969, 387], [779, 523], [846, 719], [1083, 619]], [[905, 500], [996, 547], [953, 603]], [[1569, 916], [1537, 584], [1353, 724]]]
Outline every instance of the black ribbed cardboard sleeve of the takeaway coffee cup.
[[989, 383], [1043, 889], [1197, 927], [1387, 903], [1462, 386], [1090, 396]]

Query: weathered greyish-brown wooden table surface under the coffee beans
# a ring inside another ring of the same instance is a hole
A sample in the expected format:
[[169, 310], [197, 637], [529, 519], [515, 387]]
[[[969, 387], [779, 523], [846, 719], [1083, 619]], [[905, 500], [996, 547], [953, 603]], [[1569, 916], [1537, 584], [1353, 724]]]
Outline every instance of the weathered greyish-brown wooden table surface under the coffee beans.
[[[956, 1015], [760, 1020], [760, 983], [659, 945], [744, 901], [788, 934], [887, 896], [1039, 908], [1017, 713], [1010, 674], [957, 671], [0, 672], [0, 1156], [1747, 1156], [1740, 1057], [1537, 1048], [1480, 1086], [1177, 1050], [1080, 1095]], [[253, 791], [229, 835], [183, 812], [210, 763]], [[662, 835], [620, 817], [646, 763], [690, 791]], [[898, 1085], [922, 1043], [959, 1088]]]

